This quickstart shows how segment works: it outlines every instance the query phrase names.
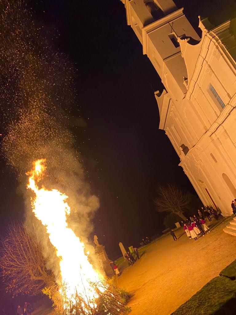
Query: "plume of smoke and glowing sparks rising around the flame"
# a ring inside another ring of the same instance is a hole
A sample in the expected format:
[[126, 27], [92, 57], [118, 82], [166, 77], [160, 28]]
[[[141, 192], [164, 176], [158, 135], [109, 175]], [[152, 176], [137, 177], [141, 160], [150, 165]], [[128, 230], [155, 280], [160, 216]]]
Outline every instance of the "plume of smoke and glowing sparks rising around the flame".
[[32, 213], [25, 173], [33, 161], [46, 159], [47, 172], [40, 185], [68, 196], [68, 226], [88, 246], [91, 218], [99, 200], [85, 181], [81, 157], [68, 127], [66, 113], [77, 106], [73, 68], [63, 55], [53, 52], [23, 2], [0, 0], [0, 12], [0, 103], [5, 123], [2, 149], [18, 175], [25, 199], [25, 224], [44, 231], [44, 256], [57, 278], [59, 259], [45, 237], [46, 228]]

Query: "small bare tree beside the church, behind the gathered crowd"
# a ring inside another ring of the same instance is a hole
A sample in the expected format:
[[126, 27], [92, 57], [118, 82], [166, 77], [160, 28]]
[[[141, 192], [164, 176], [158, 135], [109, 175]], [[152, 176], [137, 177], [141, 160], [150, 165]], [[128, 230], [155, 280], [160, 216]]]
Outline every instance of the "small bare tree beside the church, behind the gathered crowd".
[[158, 212], [174, 213], [183, 220], [185, 207], [188, 205], [188, 195], [175, 185], [158, 187], [158, 197], [154, 200]]

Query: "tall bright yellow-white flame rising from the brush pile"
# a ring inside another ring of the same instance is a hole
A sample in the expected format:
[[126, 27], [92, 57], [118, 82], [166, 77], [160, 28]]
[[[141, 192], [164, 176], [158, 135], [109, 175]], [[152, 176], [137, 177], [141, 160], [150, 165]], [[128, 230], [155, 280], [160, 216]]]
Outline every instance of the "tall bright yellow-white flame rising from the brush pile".
[[[68, 299], [78, 292], [84, 299], [94, 301], [96, 292], [90, 282], [97, 283], [101, 276], [93, 269], [85, 254], [84, 243], [68, 227], [66, 215], [70, 215], [70, 207], [66, 202], [67, 196], [56, 189], [47, 190], [39, 188], [37, 182], [42, 179], [46, 170], [45, 159], [33, 163], [34, 168], [28, 175], [30, 188], [35, 197], [31, 200], [35, 216], [46, 226], [49, 239], [56, 248], [60, 258], [60, 271], [62, 282], [66, 283], [66, 296]], [[59, 284], [61, 285], [61, 283]]]

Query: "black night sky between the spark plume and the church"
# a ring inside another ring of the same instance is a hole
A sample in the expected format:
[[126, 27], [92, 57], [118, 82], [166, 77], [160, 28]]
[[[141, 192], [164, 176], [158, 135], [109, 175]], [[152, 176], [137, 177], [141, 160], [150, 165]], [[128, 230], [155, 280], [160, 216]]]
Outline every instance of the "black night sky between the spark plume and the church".
[[[219, 24], [236, 13], [234, 1], [215, 1], [214, 8], [211, 1], [175, 3], [184, 6], [196, 27], [198, 15]], [[163, 86], [126, 25], [120, 1], [31, 0], [30, 6], [53, 48], [77, 69], [77, 106], [71, 115], [81, 119], [73, 133], [91, 191], [100, 198], [94, 231], [114, 258], [120, 255], [120, 241], [137, 245], [164, 228], [164, 215], [156, 213], [153, 203], [159, 184], [195, 192], [165, 132], [158, 129], [154, 91]], [[23, 217], [24, 205], [16, 175], [3, 158], [0, 169], [3, 231], [10, 219]]]

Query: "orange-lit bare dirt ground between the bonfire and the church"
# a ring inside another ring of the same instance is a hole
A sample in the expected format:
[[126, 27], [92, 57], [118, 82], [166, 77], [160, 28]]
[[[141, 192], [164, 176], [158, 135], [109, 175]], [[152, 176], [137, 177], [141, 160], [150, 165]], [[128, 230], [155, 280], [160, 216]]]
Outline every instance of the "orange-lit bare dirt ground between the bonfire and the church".
[[118, 278], [119, 286], [134, 293], [130, 315], [171, 314], [235, 260], [236, 237], [222, 231], [228, 221], [197, 241], [181, 228], [177, 242], [166, 235], [145, 246], [139, 261]]

